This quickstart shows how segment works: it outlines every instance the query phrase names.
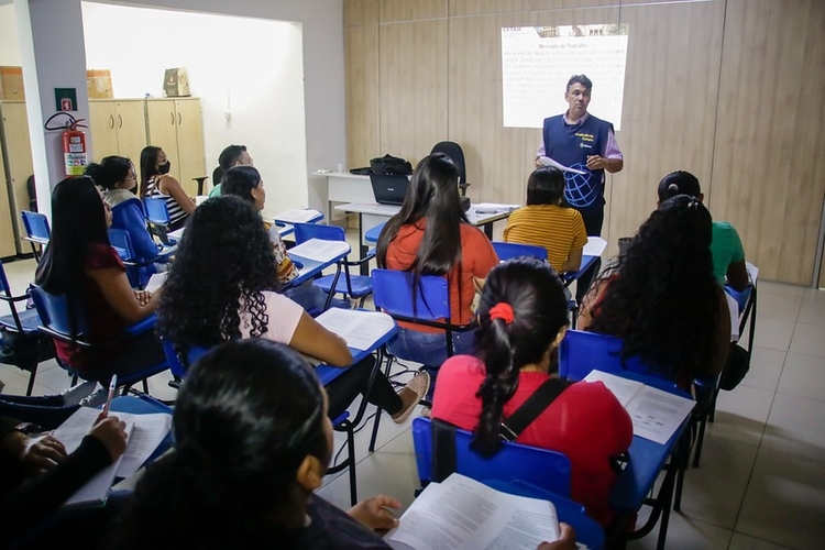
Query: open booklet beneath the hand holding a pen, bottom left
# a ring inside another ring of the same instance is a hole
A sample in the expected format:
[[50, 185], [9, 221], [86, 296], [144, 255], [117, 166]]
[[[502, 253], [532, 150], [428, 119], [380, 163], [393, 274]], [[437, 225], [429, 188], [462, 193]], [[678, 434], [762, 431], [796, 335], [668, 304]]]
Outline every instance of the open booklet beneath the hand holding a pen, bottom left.
[[[73, 453], [80, 447], [84, 437], [95, 424], [99, 409], [80, 407], [65, 422], [63, 422], [52, 437], [61, 441], [67, 453]], [[161, 441], [172, 428], [172, 415], [163, 413], [152, 415], [131, 415], [128, 413], [111, 411], [127, 425], [129, 443], [123, 455], [110, 466], [98, 472], [86, 485], [66, 501], [66, 506], [102, 504], [109, 495], [114, 477], [129, 477], [143, 465], [148, 457], [157, 449]]]

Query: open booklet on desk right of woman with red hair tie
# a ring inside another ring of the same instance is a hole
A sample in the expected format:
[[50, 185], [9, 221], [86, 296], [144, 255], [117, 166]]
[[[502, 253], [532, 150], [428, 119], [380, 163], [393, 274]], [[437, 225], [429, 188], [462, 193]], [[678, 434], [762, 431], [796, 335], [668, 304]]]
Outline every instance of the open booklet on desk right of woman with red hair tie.
[[602, 371], [591, 371], [584, 381], [604, 383], [630, 415], [634, 436], [659, 444], [668, 442], [695, 405], [693, 399]]

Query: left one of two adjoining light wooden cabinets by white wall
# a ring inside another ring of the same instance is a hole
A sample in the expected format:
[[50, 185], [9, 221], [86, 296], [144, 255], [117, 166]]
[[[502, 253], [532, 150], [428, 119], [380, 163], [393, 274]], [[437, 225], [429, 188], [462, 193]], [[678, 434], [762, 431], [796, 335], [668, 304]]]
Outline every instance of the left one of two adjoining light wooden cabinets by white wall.
[[89, 133], [95, 162], [110, 155], [131, 158], [140, 170], [146, 140], [146, 116], [142, 99], [89, 101]]

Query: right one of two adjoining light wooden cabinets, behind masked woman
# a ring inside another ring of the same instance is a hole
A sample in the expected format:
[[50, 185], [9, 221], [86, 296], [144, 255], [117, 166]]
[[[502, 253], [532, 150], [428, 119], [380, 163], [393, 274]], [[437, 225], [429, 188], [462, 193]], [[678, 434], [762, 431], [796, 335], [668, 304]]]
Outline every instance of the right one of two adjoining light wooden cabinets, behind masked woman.
[[193, 178], [207, 175], [200, 100], [147, 99], [146, 128], [150, 143], [162, 147], [169, 157], [169, 174], [194, 197], [198, 185]]

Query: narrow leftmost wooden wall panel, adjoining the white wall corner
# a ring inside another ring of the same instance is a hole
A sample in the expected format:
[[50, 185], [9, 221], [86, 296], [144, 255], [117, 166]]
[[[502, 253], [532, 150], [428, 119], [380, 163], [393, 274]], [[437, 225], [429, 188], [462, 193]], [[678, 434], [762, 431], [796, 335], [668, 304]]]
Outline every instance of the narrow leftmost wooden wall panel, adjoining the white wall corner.
[[[369, 166], [381, 148], [378, 26], [344, 29], [346, 59], [346, 166]], [[354, 121], [358, 121], [355, 123]]]

